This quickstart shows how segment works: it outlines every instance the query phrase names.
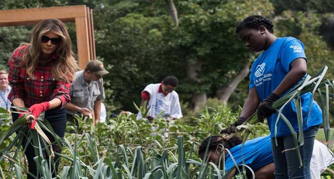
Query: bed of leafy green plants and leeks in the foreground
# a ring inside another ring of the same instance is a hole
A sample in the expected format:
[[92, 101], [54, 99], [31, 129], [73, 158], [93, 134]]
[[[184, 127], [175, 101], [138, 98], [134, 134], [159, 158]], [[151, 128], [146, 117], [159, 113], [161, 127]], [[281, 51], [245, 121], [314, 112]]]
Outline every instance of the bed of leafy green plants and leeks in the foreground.
[[[166, 178], [167, 176], [195, 177], [198, 171], [203, 175], [220, 173], [214, 164], [202, 163], [196, 154], [196, 146], [204, 138], [216, 135], [221, 127], [228, 126], [235, 120], [235, 114], [226, 106], [208, 107], [198, 117], [192, 118], [192, 126], [185, 125], [179, 120], [166, 123], [165, 119], [154, 119], [153, 123], [149, 123], [146, 119], [136, 120], [135, 115], [108, 118], [106, 123], [98, 123], [96, 126], [92, 124], [91, 119], [81, 117], [78, 119], [78, 126], [67, 124], [69, 132], [66, 132], [65, 138], [59, 141], [63, 146], [61, 154], [63, 159], [59, 169], [61, 178], [79, 176], [107, 178], [112, 175], [115, 177], [117, 175], [119, 178], [130, 175], [156, 178], [162, 175]], [[29, 138], [31, 135], [36, 137], [34, 131], [21, 125], [23, 121], [17, 121], [15, 124], [10, 123], [12, 129], [18, 126], [16, 131], [26, 131]], [[48, 126], [46, 120], [44, 122], [39, 120], [39, 124], [44, 129], [48, 128], [45, 127]], [[3, 124], [1, 129], [6, 126], [7, 124]], [[257, 131], [267, 132], [255, 128]], [[18, 147], [21, 144], [15, 141], [12, 143], [11, 140], [17, 141], [19, 135], [22, 138], [23, 132], [15, 134], [14, 130], [11, 130], [10, 137], [6, 139], [9, 142], [5, 143], [5, 148], [9, 152], [6, 152], [4, 159], [6, 162], [1, 163], [3, 170], [1, 173], [5, 178], [9, 175], [19, 178], [24, 171], [27, 171], [22, 158], [22, 149]], [[34, 145], [39, 146], [38, 143]], [[10, 165], [8, 161], [12, 161], [15, 165]], [[44, 171], [47, 171], [52, 164], [47, 163], [42, 156], [36, 158], [36, 161], [39, 163], [42, 175], [44, 177], [49, 175], [50, 173]]]

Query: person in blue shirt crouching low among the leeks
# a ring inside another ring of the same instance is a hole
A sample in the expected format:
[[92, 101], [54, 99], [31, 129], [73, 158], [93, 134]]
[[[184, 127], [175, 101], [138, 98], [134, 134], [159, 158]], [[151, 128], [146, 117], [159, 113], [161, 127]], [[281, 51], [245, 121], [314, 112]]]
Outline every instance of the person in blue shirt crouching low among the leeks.
[[[210, 141], [210, 142], [209, 142]], [[220, 169], [222, 169], [222, 158], [225, 157], [225, 171], [231, 170], [234, 167], [234, 162], [227, 152], [226, 156], [222, 155], [222, 147], [230, 150], [237, 164], [249, 166], [255, 174], [255, 179], [270, 179], [274, 177], [274, 163], [271, 150], [270, 136], [257, 137], [245, 142], [242, 148], [243, 139], [238, 136], [224, 138], [221, 136], [211, 136], [203, 140], [198, 149], [198, 155], [203, 160], [205, 151], [208, 148], [206, 160], [217, 163], [220, 160]], [[221, 154], [221, 155], [220, 155]], [[219, 158], [220, 156], [220, 158]], [[321, 173], [324, 172], [327, 166], [334, 163], [333, 153], [321, 142], [314, 140], [314, 147], [310, 163], [311, 179], [320, 179]], [[218, 165], [218, 164], [217, 164]], [[236, 169], [228, 178], [232, 178], [237, 172]], [[251, 178], [251, 173], [246, 170], [247, 178]]]

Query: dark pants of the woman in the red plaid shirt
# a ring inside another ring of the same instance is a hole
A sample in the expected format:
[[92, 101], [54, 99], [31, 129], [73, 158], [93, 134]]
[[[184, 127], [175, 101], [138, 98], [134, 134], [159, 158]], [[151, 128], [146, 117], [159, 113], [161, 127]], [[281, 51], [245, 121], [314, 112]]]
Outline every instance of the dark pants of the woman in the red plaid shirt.
[[[18, 118], [18, 114], [16, 113], [12, 113], [12, 117], [13, 117], [13, 121], [15, 121], [17, 118]], [[53, 109], [50, 109], [50, 110], [47, 110], [45, 112], [45, 119], [49, 121], [53, 131], [61, 138], [64, 137], [64, 134], [65, 134], [65, 129], [66, 129], [66, 111], [65, 111], [65, 108], [60, 108], [60, 107], [57, 107], [57, 108], [53, 108]], [[52, 142], [54, 142], [54, 138], [52, 137], [52, 135], [43, 130], [45, 132], [45, 135], [49, 138], [49, 140]], [[25, 145], [26, 141], [23, 141], [23, 145]], [[23, 146], [25, 147], [25, 146]], [[53, 150], [55, 152], [58, 152], [58, 153], [61, 153], [61, 146], [58, 146], [57, 144], [53, 144], [52, 145], [53, 147]], [[26, 151], [25, 151], [25, 154], [26, 154], [26, 157], [27, 157], [27, 160], [28, 160], [28, 165], [29, 165], [29, 172], [34, 174], [35, 176], [38, 176], [37, 175], [37, 167], [36, 167], [36, 163], [35, 161], [33, 160], [33, 158], [35, 157], [35, 148], [29, 143]], [[36, 150], [38, 150], [36, 148]], [[49, 159], [49, 156], [47, 156], [46, 152], [44, 151], [44, 156], [45, 158], [48, 160]], [[54, 157], [54, 164], [55, 164], [55, 167], [51, 169], [51, 171], [55, 171], [52, 173], [52, 176], [55, 177], [56, 173], [57, 173], [57, 170], [58, 170], [58, 166], [59, 166], [59, 160], [60, 160], [60, 156], [59, 155], [55, 155]], [[38, 176], [40, 177], [40, 175]], [[30, 179], [30, 178], [34, 178], [32, 177], [31, 175], [28, 175], [27, 176], [27, 179]]]

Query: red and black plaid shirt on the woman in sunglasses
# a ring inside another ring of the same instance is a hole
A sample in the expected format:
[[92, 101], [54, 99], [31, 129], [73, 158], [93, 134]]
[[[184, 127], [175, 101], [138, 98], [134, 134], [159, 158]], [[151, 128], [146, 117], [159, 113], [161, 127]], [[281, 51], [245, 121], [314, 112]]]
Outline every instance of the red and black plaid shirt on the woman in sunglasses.
[[15, 98], [24, 101], [26, 107], [33, 104], [50, 101], [59, 98], [62, 107], [70, 102], [70, 82], [57, 81], [52, 77], [51, 70], [54, 65], [55, 55], [45, 65], [39, 64], [34, 72], [35, 79], [30, 79], [22, 63], [27, 45], [17, 48], [9, 58], [8, 81], [12, 87], [8, 99], [12, 102]]

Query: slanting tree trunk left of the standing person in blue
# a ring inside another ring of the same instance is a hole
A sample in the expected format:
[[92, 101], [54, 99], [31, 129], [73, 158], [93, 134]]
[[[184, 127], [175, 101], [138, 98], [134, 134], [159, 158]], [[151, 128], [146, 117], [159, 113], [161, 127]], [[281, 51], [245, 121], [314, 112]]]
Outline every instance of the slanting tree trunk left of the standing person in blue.
[[244, 66], [244, 68], [240, 71], [240, 73], [229, 83], [228, 86], [220, 87], [216, 91], [216, 96], [217, 98], [224, 102], [227, 103], [229, 100], [230, 96], [234, 92], [235, 88], [238, 86], [238, 84], [248, 76], [249, 73], [249, 64], [250, 62], [247, 62]]

